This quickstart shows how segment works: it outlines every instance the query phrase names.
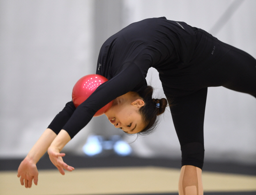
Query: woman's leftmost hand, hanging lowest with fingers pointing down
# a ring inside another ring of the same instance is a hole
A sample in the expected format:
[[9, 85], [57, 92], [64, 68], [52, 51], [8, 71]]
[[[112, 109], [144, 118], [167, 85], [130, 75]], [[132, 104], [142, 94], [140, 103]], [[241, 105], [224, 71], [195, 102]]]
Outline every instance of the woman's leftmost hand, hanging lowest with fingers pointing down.
[[32, 160], [25, 158], [19, 165], [18, 177], [20, 177], [20, 184], [24, 185], [25, 188], [31, 188], [32, 180], [34, 179], [34, 184], [38, 184], [38, 169], [36, 163]]

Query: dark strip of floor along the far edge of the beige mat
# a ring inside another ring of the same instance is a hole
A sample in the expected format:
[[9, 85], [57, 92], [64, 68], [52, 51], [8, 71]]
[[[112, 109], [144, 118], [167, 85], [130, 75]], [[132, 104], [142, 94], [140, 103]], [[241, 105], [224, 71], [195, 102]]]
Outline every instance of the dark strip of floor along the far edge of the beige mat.
[[[132, 167], [132, 166], [156, 166], [168, 168], [181, 168], [181, 160], [173, 160], [169, 158], [138, 158], [138, 157], [86, 157], [69, 155], [63, 158], [64, 162], [75, 168], [98, 168], [98, 167]], [[23, 159], [0, 159], [0, 171], [17, 170]], [[49, 159], [48, 155], [44, 155], [37, 164], [40, 169], [56, 169]], [[232, 162], [204, 162], [204, 171], [221, 172], [221, 173], [237, 173], [246, 175], [256, 175], [256, 165], [243, 165]]]

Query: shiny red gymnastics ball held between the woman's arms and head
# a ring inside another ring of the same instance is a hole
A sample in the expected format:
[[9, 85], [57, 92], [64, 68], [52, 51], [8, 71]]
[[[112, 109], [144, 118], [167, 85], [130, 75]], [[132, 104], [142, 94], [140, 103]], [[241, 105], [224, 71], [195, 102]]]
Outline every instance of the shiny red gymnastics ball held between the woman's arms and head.
[[[108, 81], [107, 78], [99, 74], [88, 74], [80, 78], [72, 91], [72, 100], [75, 107], [78, 107], [83, 103], [95, 90], [98, 86], [102, 85], [105, 81]], [[113, 101], [109, 102], [107, 105], [98, 110], [94, 117], [98, 117], [105, 113], [113, 104]]]

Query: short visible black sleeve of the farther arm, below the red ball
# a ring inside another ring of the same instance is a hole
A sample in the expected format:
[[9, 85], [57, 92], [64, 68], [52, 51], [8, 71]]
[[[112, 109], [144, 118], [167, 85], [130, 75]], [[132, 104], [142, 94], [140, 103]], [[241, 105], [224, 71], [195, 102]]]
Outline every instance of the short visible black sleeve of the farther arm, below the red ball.
[[51, 124], [48, 126], [49, 129], [52, 129], [57, 135], [63, 126], [66, 124], [68, 119], [72, 116], [73, 112], [75, 111], [75, 106], [73, 102], [66, 103], [66, 106], [60, 111], [59, 114], [53, 119]]

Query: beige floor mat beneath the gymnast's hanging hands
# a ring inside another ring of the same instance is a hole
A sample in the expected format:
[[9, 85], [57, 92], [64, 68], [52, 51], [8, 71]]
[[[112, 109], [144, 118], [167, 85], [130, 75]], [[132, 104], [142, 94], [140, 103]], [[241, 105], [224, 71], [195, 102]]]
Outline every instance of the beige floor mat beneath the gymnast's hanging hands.
[[[177, 192], [180, 169], [159, 167], [39, 171], [38, 186], [25, 188], [16, 171], [0, 172], [0, 195], [108, 195]], [[205, 192], [256, 191], [256, 176], [203, 172]]]

